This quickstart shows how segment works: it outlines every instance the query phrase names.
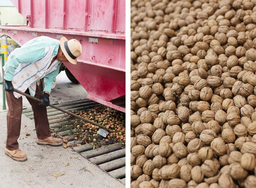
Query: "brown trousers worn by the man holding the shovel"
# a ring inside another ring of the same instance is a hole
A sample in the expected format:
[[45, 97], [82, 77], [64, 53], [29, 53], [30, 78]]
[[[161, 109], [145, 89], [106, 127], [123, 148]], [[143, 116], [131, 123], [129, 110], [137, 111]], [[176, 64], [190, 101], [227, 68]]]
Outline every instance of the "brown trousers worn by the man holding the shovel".
[[[15, 98], [13, 93], [6, 93], [6, 100], [8, 104], [8, 113], [7, 113], [7, 139], [6, 139], [6, 148], [8, 150], [16, 150], [19, 148], [18, 138], [20, 135], [20, 126], [21, 126], [21, 116], [22, 116], [22, 97]], [[29, 90], [25, 92], [29, 94]], [[42, 98], [42, 92], [40, 91], [38, 85], [35, 90], [36, 98]], [[33, 99], [28, 98], [29, 103], [32, 106], [34, 113], [34, 122], [35, 122], [35, 131], [37, 132], [37, 137], [44, 139], [51, 136], [49, 130], [49, 122], [47, 118], [46, 107], [39, 105], [39, 102]]]

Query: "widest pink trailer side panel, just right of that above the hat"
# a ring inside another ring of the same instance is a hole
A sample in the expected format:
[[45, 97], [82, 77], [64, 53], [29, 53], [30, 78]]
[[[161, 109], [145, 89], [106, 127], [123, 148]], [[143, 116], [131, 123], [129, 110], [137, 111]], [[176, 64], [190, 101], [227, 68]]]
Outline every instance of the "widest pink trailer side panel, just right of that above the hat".
[[113, 0], [89, 0], [88, 31], [111, 32]]

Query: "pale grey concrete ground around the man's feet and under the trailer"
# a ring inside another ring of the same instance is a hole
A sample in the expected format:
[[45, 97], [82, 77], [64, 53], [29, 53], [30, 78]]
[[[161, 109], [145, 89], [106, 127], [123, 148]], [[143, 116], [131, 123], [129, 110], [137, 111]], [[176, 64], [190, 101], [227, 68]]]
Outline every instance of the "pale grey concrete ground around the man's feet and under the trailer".
[[[65, 103], [85, 99], [86, 95], [81, 85], [73, 84], [65, 72], [61, 72], [57, 76], [57, 85], [50, 96], [50, 101], [52, 104]], [[7, 111], [2, 110], [2, 91], [0, 99], [0, 188], [125, 187], [89, 160], [73, 152], [71, 148], [37, 145], [34, 122], [25, 115], [22, 115], [18, 142], [19, 148], [27, 154], [28, 160], [18, 162], [6, 156], [4, 148]], [[23, 106], [31, 108], [26, 98], [23, 100]], [[30, 133], [30, 136], [26, 136], [26, 133]]]

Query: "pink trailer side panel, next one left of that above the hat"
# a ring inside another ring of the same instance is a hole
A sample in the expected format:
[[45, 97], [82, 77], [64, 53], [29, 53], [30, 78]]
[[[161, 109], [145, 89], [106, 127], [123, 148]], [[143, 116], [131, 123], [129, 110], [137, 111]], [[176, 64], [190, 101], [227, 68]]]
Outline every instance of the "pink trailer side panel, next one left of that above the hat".
[[63, 28], [63, 2], [63, 0], [48, 1], [48, 28]]

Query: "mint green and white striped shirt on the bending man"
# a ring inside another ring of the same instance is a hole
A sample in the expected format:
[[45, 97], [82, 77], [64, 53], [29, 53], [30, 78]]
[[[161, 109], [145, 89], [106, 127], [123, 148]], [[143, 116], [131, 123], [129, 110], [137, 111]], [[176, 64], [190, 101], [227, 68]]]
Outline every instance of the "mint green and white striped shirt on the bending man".
[[40, 36], [16, 48], [3, 67], [4, 79], [12, 81], [17, 90], [26, 91], [29, 88], [30, 94], [34, 96], [36, 82], [44, 77], [44, 91], [50, 93], [61, 64], [56, 59], [50, 66], [59, 45], [59, 40]]

